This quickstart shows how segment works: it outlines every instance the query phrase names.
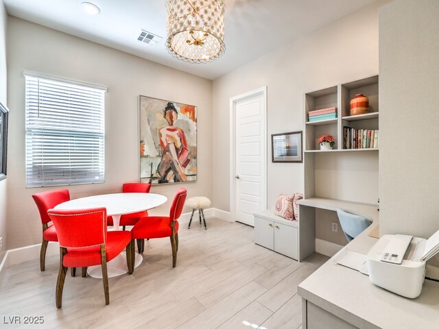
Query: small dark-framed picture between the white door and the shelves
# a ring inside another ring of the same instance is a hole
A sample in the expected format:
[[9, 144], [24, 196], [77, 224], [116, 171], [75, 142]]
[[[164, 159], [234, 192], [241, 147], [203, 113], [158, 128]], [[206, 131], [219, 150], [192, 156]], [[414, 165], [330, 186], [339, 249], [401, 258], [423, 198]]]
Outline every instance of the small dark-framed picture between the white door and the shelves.
[[272, 134], [272, 162], [302, 161], [302, 132]]

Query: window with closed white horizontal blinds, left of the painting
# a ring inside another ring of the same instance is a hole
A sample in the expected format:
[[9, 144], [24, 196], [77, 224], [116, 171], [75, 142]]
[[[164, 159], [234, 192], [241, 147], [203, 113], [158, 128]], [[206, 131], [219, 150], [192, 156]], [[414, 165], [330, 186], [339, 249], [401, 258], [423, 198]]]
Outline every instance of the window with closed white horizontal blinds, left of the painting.
[[104, 182], [106, 88], [25, 72], [26, 186]]

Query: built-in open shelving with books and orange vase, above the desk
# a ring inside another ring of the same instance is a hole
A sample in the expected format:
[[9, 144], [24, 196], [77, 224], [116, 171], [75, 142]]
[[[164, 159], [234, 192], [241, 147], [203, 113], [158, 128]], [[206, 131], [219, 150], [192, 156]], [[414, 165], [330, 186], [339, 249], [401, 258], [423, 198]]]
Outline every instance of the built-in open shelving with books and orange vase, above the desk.
[[[363, 202], [365, 195], [366, 199], [375, 197], [374, 184], [377, 184], [377, 178], [375, 174], [370, 174], [370, 170], [377, 172], [379, 149], [344, 149], [343, 138], [344, 127], [351, 127], [353, 130], [379, 130], [378, 87], [378, 75], [374, 75], [305, 94], [305, 198], [351, 199], [351, 191], [356, 193], [352, 201]], [[368, 97], [369, 113], [350, 114], [351, 99], [357, 94]], [[309, 122], [310, 111], [333, 107], [337, 108], [337, 118]], [[333, 136], [333, 149], [320, 150], [318, 138], [324, 134]], [[372, 184], [369, 184], [368, 178], [372, 178]]]

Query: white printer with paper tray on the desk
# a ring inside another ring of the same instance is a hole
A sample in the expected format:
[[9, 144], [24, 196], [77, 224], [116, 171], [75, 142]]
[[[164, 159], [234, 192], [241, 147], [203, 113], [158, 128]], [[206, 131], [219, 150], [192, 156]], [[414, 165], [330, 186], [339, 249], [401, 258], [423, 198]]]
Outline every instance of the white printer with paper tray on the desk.
[[384, 235], [367, 255], [370, 281], [398, 295], [416, 298], [423, 288], [425, 263], [439, 252], [439, 231], [428, 240]]

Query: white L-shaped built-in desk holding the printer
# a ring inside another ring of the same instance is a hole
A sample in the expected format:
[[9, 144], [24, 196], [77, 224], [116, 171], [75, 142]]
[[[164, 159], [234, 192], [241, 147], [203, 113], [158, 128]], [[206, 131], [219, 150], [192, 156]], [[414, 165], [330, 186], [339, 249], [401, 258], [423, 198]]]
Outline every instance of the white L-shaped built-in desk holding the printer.
[[[311, 198], [302, 207], [335, 210], [342, 208], [373, 219], [364, 232], [344, 247], [367, 254], [377, 239], [368, 236], [379, 221], [374, 206]], [[305, 212], [310, 209], [306, 210]], [[343, 252], [344, 249], [342, 249]], [[302, 328], [439, 328], [439, 282], [425, 280], [423, 291], [414, 300], [385, 291], [364, 274], [334, 263], [333, 256], [298, 286], [302, 297]]]

